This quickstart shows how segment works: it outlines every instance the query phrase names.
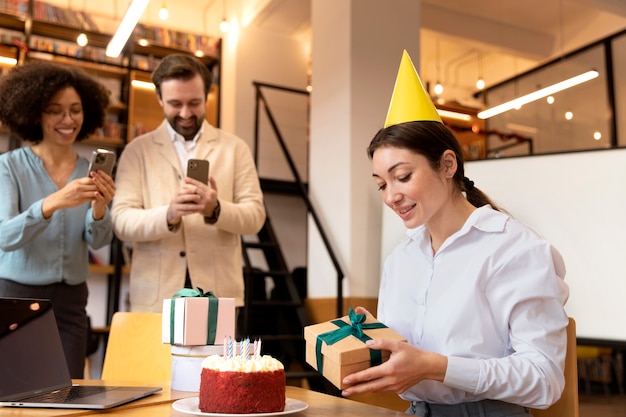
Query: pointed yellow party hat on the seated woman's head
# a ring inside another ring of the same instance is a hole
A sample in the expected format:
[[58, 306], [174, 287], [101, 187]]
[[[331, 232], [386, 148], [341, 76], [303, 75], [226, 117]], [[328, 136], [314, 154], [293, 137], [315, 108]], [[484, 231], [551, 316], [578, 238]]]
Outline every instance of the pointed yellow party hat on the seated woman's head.
[[415, 71], [409, 54], [404, 50], [387, 111], [385, 127], [419, 120], [443, 123]]

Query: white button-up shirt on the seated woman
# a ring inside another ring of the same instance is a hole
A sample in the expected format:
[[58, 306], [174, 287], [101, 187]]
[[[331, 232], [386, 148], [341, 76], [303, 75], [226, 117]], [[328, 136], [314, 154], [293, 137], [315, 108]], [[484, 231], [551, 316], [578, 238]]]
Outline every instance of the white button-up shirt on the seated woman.
[[489, 206], [433, 255], [425, 227], [385, 262], [378, 319], [421, 349], [448, 357], [443, 383], [422, 381], [410, 401], [556, 401], [569, 295], [560, 254], [531, 228]]

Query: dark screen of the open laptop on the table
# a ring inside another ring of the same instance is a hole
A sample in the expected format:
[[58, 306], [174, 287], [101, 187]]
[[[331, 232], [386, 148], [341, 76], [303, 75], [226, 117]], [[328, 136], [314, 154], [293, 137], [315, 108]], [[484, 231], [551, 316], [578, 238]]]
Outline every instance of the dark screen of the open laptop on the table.
[[0, 298], [0, 401], [71, 383], [50, 301]]

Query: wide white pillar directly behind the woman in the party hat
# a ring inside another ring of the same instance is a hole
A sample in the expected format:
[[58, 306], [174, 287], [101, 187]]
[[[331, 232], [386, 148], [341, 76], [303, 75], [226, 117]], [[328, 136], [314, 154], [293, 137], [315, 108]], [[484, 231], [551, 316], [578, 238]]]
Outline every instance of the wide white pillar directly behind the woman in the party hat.
[[[376, 297], [382, 204], [365, 150], [383, 125], [402, 50], [419, 57], [419, 2], [312, 6], [310, 194], [338, 251], [344, 294]], [[309, 224], [309, 294], [334, 297], [336, 272]]]

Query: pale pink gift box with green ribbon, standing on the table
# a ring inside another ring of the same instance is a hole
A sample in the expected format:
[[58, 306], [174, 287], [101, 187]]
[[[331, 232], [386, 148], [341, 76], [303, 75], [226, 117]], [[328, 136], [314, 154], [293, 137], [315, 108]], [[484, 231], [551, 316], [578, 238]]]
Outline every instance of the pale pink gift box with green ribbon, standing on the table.
[[235, 299], [184, 288], [163, 300], [163, 343], [222, 345], [235, 337]]

